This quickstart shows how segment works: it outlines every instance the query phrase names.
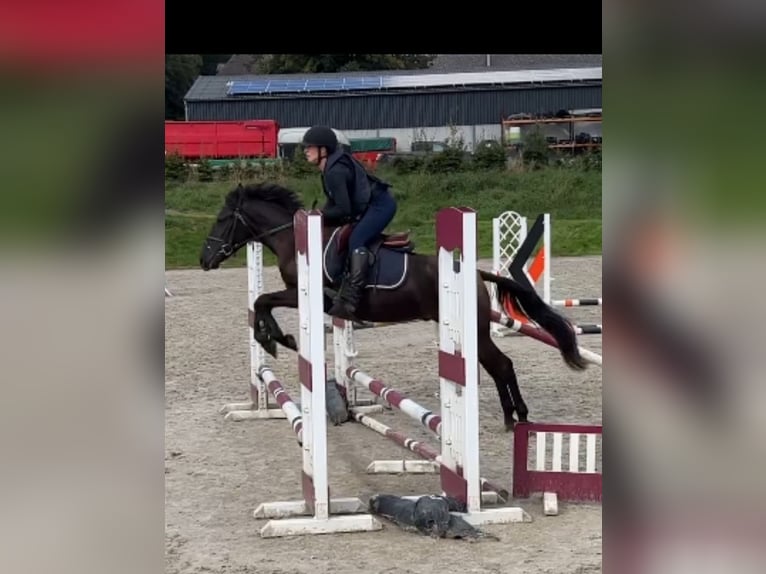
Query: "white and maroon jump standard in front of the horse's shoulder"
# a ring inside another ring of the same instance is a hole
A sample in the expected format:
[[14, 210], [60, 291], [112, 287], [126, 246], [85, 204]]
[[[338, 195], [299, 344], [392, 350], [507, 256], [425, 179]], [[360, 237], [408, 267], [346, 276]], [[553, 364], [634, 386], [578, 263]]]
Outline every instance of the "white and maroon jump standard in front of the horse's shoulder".
[[[322, 278], [322, 215], [299, 210], [295, 214], [298, 267], [298, 378], [301, 385], [301, 420], [291, 420], [303, 449], [303, 499], [263, 503], [255, 518], [270, 518], [263, 538], [336, 532], [366, 532], [382, 524], [366, 512], [359, 498], [330, 498], [327, 472], [327, 417], [325, 409], [325, 334]], [[260, 374], [273, 373], [262, 366]], [[285, 395], [281, 389], [281, 395]], [[279, 393], [274, 393], [280, 396]], [[295, 404], [287, 397], [288, 404]], [[257, 412], [257, 411], [256, 411]], [[268, 418], [268, 417], [266, 417]], [[306, 516], [309, 515], [309, 516]]]

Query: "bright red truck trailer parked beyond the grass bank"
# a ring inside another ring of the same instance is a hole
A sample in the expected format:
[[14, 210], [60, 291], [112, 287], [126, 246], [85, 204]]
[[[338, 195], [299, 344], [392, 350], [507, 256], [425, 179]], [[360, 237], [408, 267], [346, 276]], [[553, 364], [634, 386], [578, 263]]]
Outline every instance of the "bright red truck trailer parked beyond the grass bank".
[[277, 157], [274, 120], [165, 122], [165, 154], [185, 159]]

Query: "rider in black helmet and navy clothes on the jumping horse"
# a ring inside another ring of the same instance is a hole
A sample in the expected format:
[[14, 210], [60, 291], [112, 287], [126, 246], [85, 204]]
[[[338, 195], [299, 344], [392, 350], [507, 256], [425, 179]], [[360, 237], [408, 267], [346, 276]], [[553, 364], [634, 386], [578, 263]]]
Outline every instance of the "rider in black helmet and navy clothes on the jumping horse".
[[396, 214], [396, 200], [388, 183], [367, 173], [364, 166], [338, 145], [335, 132], [314, 126], [303, 136], [306, 159], [322, 172], [322, 189], [327, 203], [322, 215], [328, 225], [356, 223], [348, 241], [350, 265], [343, 275], [340, 290], [327, 312], [341, 319], [354, 319], [354, 312], [364, 290], [370, 261], [368, 246]]

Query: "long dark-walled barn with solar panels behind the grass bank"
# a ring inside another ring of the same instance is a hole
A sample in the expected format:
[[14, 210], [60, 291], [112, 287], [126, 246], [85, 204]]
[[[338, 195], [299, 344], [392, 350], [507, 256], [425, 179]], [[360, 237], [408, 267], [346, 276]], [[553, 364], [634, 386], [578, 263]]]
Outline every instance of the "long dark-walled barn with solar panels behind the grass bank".
[[273, 119], [282, 128], [331, 125], [349, 138], [413, 141], [462, 136], [468, 149], [500, 140], [519, 114], [601, 108], [601, 56], [441, 55], [427, 70], [200, 76], [187, 121]]

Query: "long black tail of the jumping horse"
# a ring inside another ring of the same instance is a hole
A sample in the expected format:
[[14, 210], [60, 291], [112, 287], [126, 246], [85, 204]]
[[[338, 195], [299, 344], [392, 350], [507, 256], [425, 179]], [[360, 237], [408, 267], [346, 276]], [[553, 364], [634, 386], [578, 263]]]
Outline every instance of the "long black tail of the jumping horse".
[[497, 300], [510, 303], [515, 309], [532, 319], [558, 343], [564, 362], [576, 370], [583, 370], [587, 362], [580, 354], [577, 337], [569, 321], [547, 305], [534, 289], [507, 278], [480, 270], [481, 278], [497, 285]]

